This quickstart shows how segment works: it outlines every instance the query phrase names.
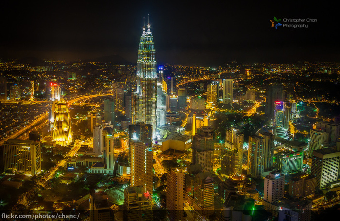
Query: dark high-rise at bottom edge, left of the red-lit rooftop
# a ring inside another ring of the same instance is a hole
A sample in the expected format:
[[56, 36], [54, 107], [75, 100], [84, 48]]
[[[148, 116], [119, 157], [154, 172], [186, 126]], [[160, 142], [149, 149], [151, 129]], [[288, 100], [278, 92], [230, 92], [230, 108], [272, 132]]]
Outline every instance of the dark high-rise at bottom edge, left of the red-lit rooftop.
[[114, 221], [106, 193], [90, 193], [90, 221]]

